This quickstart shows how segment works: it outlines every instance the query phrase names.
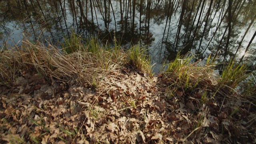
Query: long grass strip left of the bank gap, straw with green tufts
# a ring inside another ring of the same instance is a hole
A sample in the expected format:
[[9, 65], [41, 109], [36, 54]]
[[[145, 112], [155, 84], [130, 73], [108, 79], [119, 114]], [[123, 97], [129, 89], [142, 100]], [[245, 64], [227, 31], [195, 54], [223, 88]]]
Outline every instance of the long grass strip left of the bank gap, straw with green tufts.
[[113, 48], [106, 48], [96, 38], [84, 41], [77, 34], [65, 39], [62, 49], [51, 44], [47, 47], [42, 43], [33, 44], [25, 39], [20, 50], [4, 50], [0, 58], [0, 84], [5, 85], [14, 82], [24, 69], [34, 69], [46, 79], [86, 82], [93, 88], [100, 86], [100, 81], [110, 72], [117, 73], [131, 61], [134, 68], [151, 72], [148, 57], [140, 45], [124, 52], [116, 44]]

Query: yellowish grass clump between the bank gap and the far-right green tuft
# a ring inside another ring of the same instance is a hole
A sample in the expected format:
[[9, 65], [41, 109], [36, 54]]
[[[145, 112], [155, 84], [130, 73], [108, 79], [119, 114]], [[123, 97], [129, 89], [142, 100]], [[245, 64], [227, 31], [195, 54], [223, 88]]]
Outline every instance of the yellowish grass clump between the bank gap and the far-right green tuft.
[[193, 58], [192, 54], [181, 56], [178, 52], [176, 58], [167, 64], [164, 79], [182, 91], [196, 89], [198, 85], [200, 88], [214, 86], [217, 78], [213, 72], [214, 65], [203, 66], [200, 61], [193, 63]]

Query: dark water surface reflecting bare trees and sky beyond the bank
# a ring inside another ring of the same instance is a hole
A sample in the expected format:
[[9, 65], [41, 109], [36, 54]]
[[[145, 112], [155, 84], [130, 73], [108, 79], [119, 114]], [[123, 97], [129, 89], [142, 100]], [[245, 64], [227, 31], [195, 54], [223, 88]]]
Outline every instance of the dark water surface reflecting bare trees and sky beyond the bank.
[[72, 31], [104, 44], [147, 45], [153, 62], [178, 50], [218, 54], [255, 69], [256, 0], [1, 0], [1, 47], [30, 40], [59, 45]]

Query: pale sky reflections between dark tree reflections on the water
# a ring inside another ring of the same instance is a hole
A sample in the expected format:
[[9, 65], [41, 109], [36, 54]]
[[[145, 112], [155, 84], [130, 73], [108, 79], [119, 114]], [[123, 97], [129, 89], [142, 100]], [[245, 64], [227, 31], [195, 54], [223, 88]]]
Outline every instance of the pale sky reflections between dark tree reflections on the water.
[[[76, 25], [73, 25], [73, 17], [72, 17], [72, 12], [70, 10], [68, 10], [68, 2], [66, 1], [66, 22], [68, 24], [68, 28], [70, 28], [68, 31], [70, 32], [72, 30], [72, 28], [76, 29]], [[116, 18], [116, 23], [118, 23], [118, 21], [120, 21], [120, 4], [118, 1], [112, 1], [112, 6], [114, 8], [114, 15], [115, 15], [115, 18]], [[204, 12], [202, 14], [202, 18], [204, 18], [206, 16], [206, 12], [208, 10], [208, 5], [206, 4], [206, 6], [204, 7]], [[201, 47], [200, 49], [201, 50], [204, 50], [204, 48], [208, 45], [208, 41], [210, 40], [210, 36], [215, 32], [216, 30], [216, 27], [218, 26], [218, 20], [219, 20], [219, 15], [221, 13], [220, 11], [221, 9], [218, 10], [218, 12], [216, 13], [216, 16], [214, 17], [214, 13], [211, 15], [211, 18], [209, 19], [209, 21], [211, 21], [212, 19], [212, 27], [210, 28], [209, 30], [209, 36], [208, 38], [203, 38], [203, 41], [202, 41], [202, 44], [201, 44]], [[140, 17], [140, 14], [139, 14], [139, 8], [136, 8], [136, 14], [135, 14], [135, 24], [136, 24], [136, 30], [139, 30], [139, 17]], [[181, 8], [178, 8], [178, 10], [176, 11], [176, 14], [172, 15], [171, 16], [171, 26], [170, 26], [170, 30], [169, 30], [169, 34], [168, 34], [168, 42], [174, 42], [175, 40], [175, 36], [176, 36], [176, 32], [178, 30], [178, 22], [179, 22], [179, 19], [180, 19], [180, 11], [181, 11]], [[79, 13], [79, 12], [78, 12]], [[111, 19], [111, 22], [109, 24], [109, 31], [111, 30], [114, 30], [115, 29], [115, 25], [114, 25], [114, 15], [113, 15], [113, 12], [111, 10], [111, 12], [109, 13], [110, 14], [110, 19]], [[126, 12], [124, 11], [123, 12], [124, 16], [126, 15]], [[97, 20], [96, 20], [96, 15], [97, 15]], [[154, 15], [154, 14], [153, 14]], [[78, 14], [79, 16], [79, 14]], [[92, 17], [91, 17], [91, 12], [88, 11], [87, 13], [87, 18], [89, 21], [92, 20]], [[198, 15], [197, 15], [198, 16]], [[130, 11], [129, 11], [129, 14], [128, 14], [128, 20], [131, 21], [132, 19], [130, 18]], [[157, 16], [156, 16], [157, 17]], [[63, 17], [62, 17], [63, 18]], [[142, 15], [142, 20], [145, 19], [145, 15]], [[93, 20], [94, 20], [94, 23], [97, 25], [97, 22], [98, 22], [98, 25], [99, 25], [99, 28], [104, 31], [106, 30], [105, 29], [105, 25], [104, 25], [104, 21], [103, 21], [103, 16], [102, 16], [102, 13], [99, 11], [98, 8], [96, 8], [96, 12], [93, 10]], [[161, 42], [162, 42], [162, 38], [163, 38], [163, 34], [164, 34], [164, 28], [165, 28], [165, 24], [166, 24], [166, 16], [165, 18], [163, 18], [163, 20], [161, 22], [157, 22], [157, 23], [160, 23], [160, 24], [157, 24], [155, 22], [156, 18], [151, 18], [150, 19], [150, 33], [153, 34], [153, 37], [154, 37], [154, 41], [152, 42], [152, 44], [150, 45], [150, 54], [152, 56], [152, 61], [153, 63], [155, 62], [162, 62], [163, 60], [160, 60], [160, 59], [163, 59], [163, 55], [164, 55], [164, 51], [165, 51], [165, 48], [163, 47], [162, 48], [162, 52], [160, 52], [160, 48], [161, 48]], [[198, 20], [196, 20], [195, 24], [197, 23]], [[190, 22], [191, 23], [191, 22]], [[59, 24], [59, 23], [58, 23]], [[58, 25], [57, 24], [57, 25]], [[130, 24], [130, 23], [129, 23]], [[128, 24], [128, 25], [129, 25]], [[194, 25], [195, 25], [194, 24]], [[167, 24], [167, 28], [166, 28], [166, 32], [164, 34], [164, 41], [165, 41], [165, 38], [167, 36], [167, 31], [168, 31], [168, 25], [169, 25], [169, 22]], [[202, 23], [202, 27], [200, 27], [200, 31], [202, 32], [203, 29], [204, 29], [204, 22]], [[16, 29], [15, 27], [15, 24], [12, 24], [11, 22], [10, 23], [7, 23], [6, 24], [6, 27], [8, 28], [8, 30], [10, 31], [9, 34], [6, 35], [6, 38], [3, 38], [1, 41], [2, 42], [7, 42], [8, 45], [10, 46], [14, 46], [16, 45], [17, 43], [20, 44], [20, 40], [22, 40], [23, 36], [22, 36], [22, 30], [20, 30], [19, 28]], [[35, 29], [43, 29], [43, 28], [39, 28], [40, 25], [38, 24], [35, 24], [34, 25], [34, 28]], [[142, 23], [142, 26], [144, 27], [145, 24]], [[64, 28], [64, 21], [62, 20], [62, 27]], [[120, 25], [117, 25], [117, 31], [119, 31], [121, 29], [121, 26]], [[208, 26], [209, 27], [209, 26]], [[244, 32], [246, 31], [246, 28], [248, 27], [248, 24], [246, 24], [245, 26], [243, 26], [242, 28], [237, 28], [237, 27], [234, 27], [233, 30], [238, 30], [238, 36], [236, 37], [237, 39], [236, 40], [232, 40], [232, 44], [230, 44], [230, 51], [235, 51], [237, 46], [238, 46], [238, 42], [240, 42], [240, 40], [242, 39], [242, 36], [244, 35]], [[214, 38], [215, 40], [212, 40], [210, 42], [210, 45], [209, 47], [212, 47], [213, 49], [216, 50], [216, 45], [218, 42], [218, 40], [220, 40], [222, 38], [222, 34], [224, 32], [226, 28], [226, 23], [222, 23], [221, 25], [221, 28], [218, 30], [217, 33], [220, 32], [220, 35], [216, 36], [216, 38]], [[30, 28], [28, 28], [30, 29]], [[64, 28], [66, 29], [66, 28]], [[185, 30], [185, 27], [184, 25], [182, 25], [182, 28], [181, 28], [181, 32], [180, 32], [180, 36], [179, 36], [179, 39], [181, 38], [181, 36], [184, 34], [184, 30]], [[28, 30], [29, 31], [29, 30]], [[40, 31], [40, 30], [39, 30]], [[246, 46], [248, 45], [250, 39], [252, 38], [252, 35], [254, 34], [254, 31], [255, 31], [255, 26], [252, 26], [252, 28], [249, 30], [249, 32], [246, 34], [246, 37], [244, 38], [244, 41], [242, 42], [242, 48], [238, 51], [238, 58], [242, 56], [243, 52], [244, 52], [244, 49], [246, 48]], [[53, 34], [53, 36], [55, 37], [55, 39], [58, 41], [60, 40], [62, 34], [61, 33], [61, 30], [57, 30], [57, 29], [54, 29], [52, 28], [51, 29], [51, 32]], [[64, 32], [66, 32], [66, 30], [64, 30]], [[42, 32], [44, 36], [42, 36], [42, 39], [47, 39], [48, 36], [52, 37], [50, 35], [49, 32]], [[144, 34], [144, 32], [142, 32], [142, 35]], [[40, 32], [37, 32], [36, 36], [38, 37], [40, 35]], [[193, 35], [193, 32], [192, 34]], [[226, 35], [227, 35], [227, 32], [226, 32]], [[31, 35], [33, 36], [33, 35]], [[233, 38], [234, 39], [234, 38]], [[31, 40], [35, 40], [34, 38], [31, 38]], [[208, 41], [207, 41], [208, 40]], [[61, 40], [60, 40], [61, 41]], [[179, 47], [182, 47], [182, 40], [180, 40], [180, 43], [178, 44]], [[197, 43], [196, 43], [196, 48], [199, 47], [199, 41], [200, 40], [197, 40]], [[222, 43], [224, 44], [226, 40], [223, 40]], [[2, 46], [2, 42], [1, 42], [1, 46]], [[256, 38], [253, 40], [252, 44], [255, 44], [256, 42]], [[163, 46], [165, 46], [165, 44], [163, 44]], [[250, 46], [251, 48], [254, 48], [255, 46]], [[234, 50], [233, 50], [234, 48]], [[212, 52], [213, 50], [210, 50], [210, 49], [207, 49], [206, 52], [204, 53], [204, 55], [206, 57], [208, 57], [208, 55]], [[222, 50], [223, 52], [223, 50]], [[161, 53], [161, 56], [159, 55]], [[166, 53], [168, 53], [166, 51]], [[192, 53], [195, 53], [195, 50], [192, 50]], [[172, 55], [172, 54], [170, 54]], [[248, 52], [246, 53], [246, 56], [248, 55]]]

